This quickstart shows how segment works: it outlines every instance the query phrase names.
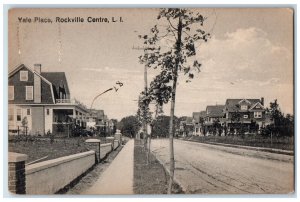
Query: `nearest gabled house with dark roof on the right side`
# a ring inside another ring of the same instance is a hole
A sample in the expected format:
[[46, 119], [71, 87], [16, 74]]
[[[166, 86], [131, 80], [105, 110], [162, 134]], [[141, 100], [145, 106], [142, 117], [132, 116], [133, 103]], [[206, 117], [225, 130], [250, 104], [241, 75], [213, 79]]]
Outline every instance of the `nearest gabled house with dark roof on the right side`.
[[227, 99], [224, 108], [226, 126], [235, 128], [240, 124], [246, 128], [266, 125], [264, 98], [261, 99]]

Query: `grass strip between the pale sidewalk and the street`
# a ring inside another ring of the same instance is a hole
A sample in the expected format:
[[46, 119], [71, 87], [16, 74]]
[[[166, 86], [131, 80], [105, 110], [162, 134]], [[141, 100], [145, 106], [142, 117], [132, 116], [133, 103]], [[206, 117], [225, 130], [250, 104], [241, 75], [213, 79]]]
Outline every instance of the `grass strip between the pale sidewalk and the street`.
[[[134, 183], [135, 194], [167, 194], [169, 176], [154, 155], [150, 154], [147, 165], [146, 152], [140, 141], [134, 146]], [[183, 193], [180, 186], [173, 185], [174, 194]]]

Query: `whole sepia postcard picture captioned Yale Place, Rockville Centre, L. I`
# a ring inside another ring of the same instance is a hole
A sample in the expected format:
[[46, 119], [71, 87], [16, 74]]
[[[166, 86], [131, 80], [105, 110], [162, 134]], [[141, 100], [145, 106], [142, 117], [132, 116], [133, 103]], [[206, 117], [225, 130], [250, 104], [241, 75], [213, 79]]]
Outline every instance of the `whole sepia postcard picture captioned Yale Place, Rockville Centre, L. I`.
[[9, 9], [8, 192], [293, 196], [294, 12]]

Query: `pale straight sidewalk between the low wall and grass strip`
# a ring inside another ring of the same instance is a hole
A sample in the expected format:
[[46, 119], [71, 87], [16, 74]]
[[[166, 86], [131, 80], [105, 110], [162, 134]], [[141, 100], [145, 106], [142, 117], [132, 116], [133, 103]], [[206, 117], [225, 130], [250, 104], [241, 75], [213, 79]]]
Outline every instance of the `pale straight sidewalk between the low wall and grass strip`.
[[133, 194], [133, 149], [129, 140], [95, 184], [83, 194]]

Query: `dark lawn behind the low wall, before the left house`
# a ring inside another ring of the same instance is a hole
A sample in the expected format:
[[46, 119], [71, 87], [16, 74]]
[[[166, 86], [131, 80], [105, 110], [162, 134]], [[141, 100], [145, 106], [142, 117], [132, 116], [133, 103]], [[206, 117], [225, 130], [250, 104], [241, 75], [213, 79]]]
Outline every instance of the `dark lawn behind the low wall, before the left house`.
[[[27, 154], [26, 163], [47, 156], [44, 161], [88, 151], [86, 139], [87, 137], [55, 138], [51, 143], [49, 137], [10, 136], [8, 151]], [[106, 143], [105, 138], [101, 138], [101, 143]]]

